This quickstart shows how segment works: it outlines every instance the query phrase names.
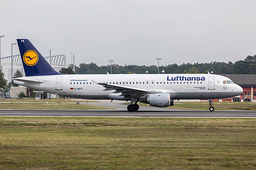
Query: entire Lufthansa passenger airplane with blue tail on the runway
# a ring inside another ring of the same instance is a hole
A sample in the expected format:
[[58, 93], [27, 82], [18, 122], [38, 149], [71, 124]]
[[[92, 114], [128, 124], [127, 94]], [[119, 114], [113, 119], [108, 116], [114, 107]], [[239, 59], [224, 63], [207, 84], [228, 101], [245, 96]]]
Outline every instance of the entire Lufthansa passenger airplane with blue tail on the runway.
[[26, 77], [13, 79], [13, 83], [72, 98], [130, 101], [130, 112], [139, 110], [138, 102], [168, 107], [182, 99], [207, 99], [213, 111], [213, 99], [243, 93], [243, 88], [229, 78], [209, 73], [63, 75], [28, 39], [17, 39], [17, 43]]

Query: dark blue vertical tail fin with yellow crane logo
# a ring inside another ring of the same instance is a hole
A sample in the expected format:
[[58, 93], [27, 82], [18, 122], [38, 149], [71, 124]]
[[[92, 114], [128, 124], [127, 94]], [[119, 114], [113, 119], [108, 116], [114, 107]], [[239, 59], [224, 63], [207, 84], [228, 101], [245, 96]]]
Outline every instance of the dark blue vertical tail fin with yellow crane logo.
[[17, 42], [26, 76], [61, 75], [51, 67], [28, 39], [17, 39]]

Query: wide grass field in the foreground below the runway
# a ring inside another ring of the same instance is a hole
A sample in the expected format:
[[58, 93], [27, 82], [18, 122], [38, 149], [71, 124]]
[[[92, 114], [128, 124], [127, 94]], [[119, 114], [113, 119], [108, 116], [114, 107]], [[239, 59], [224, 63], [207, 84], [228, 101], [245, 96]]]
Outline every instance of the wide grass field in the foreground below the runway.
[[256, 169], [255, 118], [0, 117], [0, 169]]

